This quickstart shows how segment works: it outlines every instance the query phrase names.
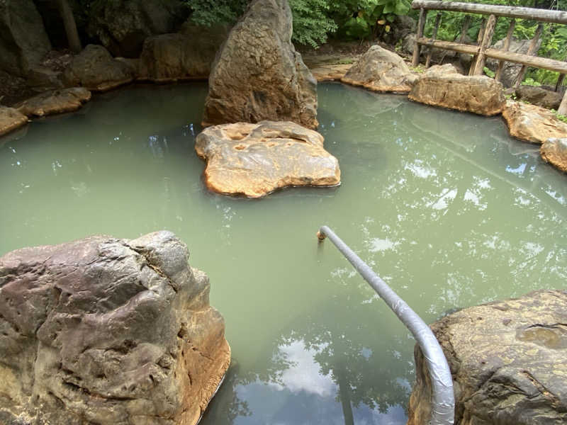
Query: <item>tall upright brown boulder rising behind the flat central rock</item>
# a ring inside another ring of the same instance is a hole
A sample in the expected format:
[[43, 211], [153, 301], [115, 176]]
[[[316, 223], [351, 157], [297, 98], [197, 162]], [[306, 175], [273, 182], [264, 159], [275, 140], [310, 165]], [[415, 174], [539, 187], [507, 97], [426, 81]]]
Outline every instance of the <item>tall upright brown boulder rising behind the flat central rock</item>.
[[316, 128], [317, 81], [291, 44], [287, 0], [253, 0], [209, 77], [203, 125], [290, 120]]

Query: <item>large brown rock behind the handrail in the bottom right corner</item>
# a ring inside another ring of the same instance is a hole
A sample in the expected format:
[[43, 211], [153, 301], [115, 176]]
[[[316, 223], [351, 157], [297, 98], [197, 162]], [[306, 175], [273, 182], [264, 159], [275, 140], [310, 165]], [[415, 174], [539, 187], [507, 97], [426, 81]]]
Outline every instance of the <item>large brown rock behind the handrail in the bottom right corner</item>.
[[[454, 380], [460, 425], [567, 423], [567, 291], [539, 290], [431, 325]], [[408, 425], [425, 424], [431, 388], [415, 348]]]

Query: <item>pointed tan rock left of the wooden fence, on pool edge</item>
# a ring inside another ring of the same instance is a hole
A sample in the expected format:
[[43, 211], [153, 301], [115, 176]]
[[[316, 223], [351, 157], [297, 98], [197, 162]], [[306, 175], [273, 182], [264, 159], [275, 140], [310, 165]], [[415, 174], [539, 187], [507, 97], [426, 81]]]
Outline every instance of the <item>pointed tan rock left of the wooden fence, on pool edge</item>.
[[374, 45], [352, 65], [341, 81], [373, 91], [408, 93], [412, 88], [410, 75], [408, 65], [400, 56]]

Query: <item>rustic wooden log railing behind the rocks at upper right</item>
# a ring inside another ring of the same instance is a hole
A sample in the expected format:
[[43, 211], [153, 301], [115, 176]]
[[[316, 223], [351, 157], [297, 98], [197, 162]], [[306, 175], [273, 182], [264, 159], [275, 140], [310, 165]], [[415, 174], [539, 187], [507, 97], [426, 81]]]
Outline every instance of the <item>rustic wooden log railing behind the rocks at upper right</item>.
[[[438, 49], [442, 50], [452, 50], [454, 52], [468, 53], [468, 55], [473, 55], [474, 60], [471, 63], [471, 68], [468, 70], [469, 75], [482, 75], [487, 57], [500, 60], [500, 62], [498, 62], [498, 69], [496, 70], [495, 74], [495, 79], [497, 80], [500, 80], [500, 77], [502, 76], [502, 70], [505, 62], [515, 62], [522, 64], [520, 74], [518, 74], [518, 77], [515, 81], [515, 88], [517, 88], [517, 86], [519, 86], [524, 79], [527, 67], [549, 69], [549, 71], [558, 72], [559, 78], [556, 89], [558, 89], [558, 86], [562, 84], [563, 79], [565, 78], [565, 74], [567, 74], [567, 62], [536, 56], [537, 45], [544, 28], [541, 22], [567, 24], [567, 11], [549, 11], [538, 8], [496, 6], [491, 4], [459, 3], [454, 1], [437, 0], [413, 0], [412, 8], [420, 9], [420, 20], [417, 23], [417, 37], [415, 40], [415, 47], [413, 50], [412, 58], [414, 67], [417, 67], [417, 65], [420, 63], [420, 50], [421, 46], [423, 45], [429, 47], [427, 60], [425, 62], [426, 67], [430, 66], [433, 47], [437, 47]], [[425, 38], [423, 36], [423, 30], [425, 28], [425, 21], [427, 20], [427, 11], [430, 10], [436, 10], [439, 12], [437, 13], [437, 17], [435, 18], [432, 37]], [[478, 32], [477, 45], [464, 44], [465, 35], [468, 31], [468, 26], [471, 21], [469, 16], [467, 16], [464, 21], [463, 30], [461, 37], [459, 38], [459, 42], [436, 40], [437, 30], [439, 28], [439, 24], [441, 23], [440, 11], [454, 11], [488, 15], [488, 19], [483, 19], [481, 30]], [[501, 50], [490, 47], [490, 45], [492, 44], [496, 21], [500, 16], [512, 18], [506, 38], [504, 40], [503, 48]], [[512, 33], [514, 33], [516, 24], [515, 18], [530, 19], [532, 21], [540, 22], [534, 38], [529, 44], [527, 54], [508, 52], [510, 41], [512, 40]], [[567, 92], [563, 96], [563, 100], [561, 101], [561, 106], [558, 109], [558, 113], [560, 113], [561, 115], [567, 115]]]

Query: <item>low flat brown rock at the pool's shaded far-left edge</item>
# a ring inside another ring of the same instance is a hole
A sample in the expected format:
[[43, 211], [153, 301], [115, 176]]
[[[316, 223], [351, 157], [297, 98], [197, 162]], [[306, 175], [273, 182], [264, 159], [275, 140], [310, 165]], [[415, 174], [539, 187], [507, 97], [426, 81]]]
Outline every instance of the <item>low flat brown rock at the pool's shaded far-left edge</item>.
[[91, 100], [91, 92], [84, 87], [72, 87], [70, 89], [51, 90], [29, 98], [16, 105], [18, 111], [28, 117], [53, 115], [77, 111]]

